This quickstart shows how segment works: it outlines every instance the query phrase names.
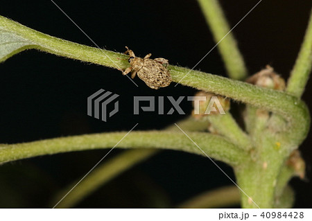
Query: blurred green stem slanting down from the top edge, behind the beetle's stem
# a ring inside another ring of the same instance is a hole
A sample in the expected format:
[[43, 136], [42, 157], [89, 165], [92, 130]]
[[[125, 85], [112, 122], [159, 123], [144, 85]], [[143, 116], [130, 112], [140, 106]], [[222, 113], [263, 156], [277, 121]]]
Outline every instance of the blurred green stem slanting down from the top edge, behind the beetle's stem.
[[230, 78], [243, 80], [247, 76], [247, 68], [243, 56], [239, 52], [234, 35], [230, 33], [229, 24], [218, 0], [198, 0], [207, 24], [214, 35], [214, 41], [225, 62], [225, 68]]

